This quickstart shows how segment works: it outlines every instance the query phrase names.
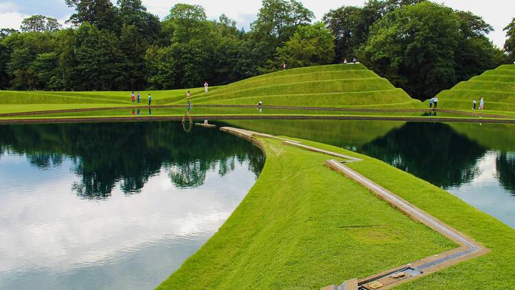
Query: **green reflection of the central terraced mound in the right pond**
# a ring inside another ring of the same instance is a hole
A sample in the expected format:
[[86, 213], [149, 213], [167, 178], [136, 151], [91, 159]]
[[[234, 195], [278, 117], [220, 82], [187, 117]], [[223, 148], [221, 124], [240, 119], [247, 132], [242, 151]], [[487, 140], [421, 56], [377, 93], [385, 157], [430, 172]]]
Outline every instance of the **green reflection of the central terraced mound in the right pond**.
[[285, 135], [334, 146], [361, 146], [385, 135], [404, 122], [343, 120], [238, 120], [230, 126], [262, 133]]

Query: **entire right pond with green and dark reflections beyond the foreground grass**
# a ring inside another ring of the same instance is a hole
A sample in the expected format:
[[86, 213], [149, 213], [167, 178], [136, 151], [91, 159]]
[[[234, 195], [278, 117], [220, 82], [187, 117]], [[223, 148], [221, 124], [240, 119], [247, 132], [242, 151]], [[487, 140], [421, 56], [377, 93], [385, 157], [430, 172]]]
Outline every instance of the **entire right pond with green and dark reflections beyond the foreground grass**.
[[515, 125], [339, 120], [229, 124], [375, 157], [515, 228]]

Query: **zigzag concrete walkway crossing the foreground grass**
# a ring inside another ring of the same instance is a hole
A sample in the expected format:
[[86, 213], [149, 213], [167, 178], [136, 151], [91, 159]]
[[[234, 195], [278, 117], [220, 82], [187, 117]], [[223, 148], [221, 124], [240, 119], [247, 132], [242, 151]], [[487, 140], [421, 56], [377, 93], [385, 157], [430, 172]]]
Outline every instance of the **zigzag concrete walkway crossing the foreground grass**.
[[329, 159], [325, 162], [325, 164], [326, 166], [328, 166], [328, 168], [335, 170], [336, 172], [340, 172], [341, 174], [345, 175], [345, 177], [348, 177], [356, 183], [361, 184], [361, 186], [364, 186], [365, 188], [369, 189], [371, 192], [376, 194], [377, 197], [379, 197], [380, 199], [384, 199], [385, 201], [387, 201], [387, 203], [392, 205], [394, 208], [397, 208], [414, 221], [424, 223], [424, 225], [430, 227], [432, 230], [435, 230], [435, 232], [439, 232], [439, 234], [446, 236], [451, 241], [454, 241], [459, 245], [459, 247], [457, 247], [456, 249], [443, 252], [434, 256], [429, 256], [427, 258], [414, 261], [407, 265], [401, 265], [400, 267], [388, 269], [386, 271], [383, 271], [382, 273], [375, 274], [367, 278], [354, 278], [346, 280], [345, 282], [343, 282], [342, 285], [331, 285], [328, 287], [324, 287], [324, 290], [390, 289], [392, 287], [399, 285], [402, 282], [408, 282], [418, 277], [426, 276], [428, 274], [434, 273], [435, 271], [439, 271], [440, 269], [450, 267], [451, 265], [455, 265], [464, 260], [468, 260], [490, 252], [488, 249], [483, 247], [483, 245], [472, 240], [472, 238], [469, 238], [468, 236], [462, 234], [458, 230], [455, 230], [453, 227], [450, 227], [446, 223], [439, 221], [434, 216], [431, 216], [431, 214], [424, 212], [420, 208], [417, 208], [415, 205], [409, 203], [408, 201], [405, 201], [393, 192], [385, 188], [382, 188], [382, 186], [379, 186], [377, 183], [374, 183], [374, 181], [371, 181], [370, 179], [364, 177], [355, 170], [352, 170], [348, 166], [345, 166], [345, 163], [362, 161], [362, 159], [342, 155], [340, 153], [332, 152], [330, 150], [323, 150], [313, 146], [307, 146], [301, 144], [301, 142], [295, 140], [288, 140], [287, 138], [282, 137], [275, 137], [274, 135], [262, 134], [231, 127], [222, 127], [220, 128], [220, 130], [250, 140], [254, 144], [260, 146], [260, 148], [263, 148], [263, 146], [261, 142], [255, 137], [271, 137], [282, 140], [284, 145], [297, 146], [299, 148], [310, 150], [312, 152], [317, 152], [345, 159], [345, 161], [343, 162], [339, 162], [334, 159]]

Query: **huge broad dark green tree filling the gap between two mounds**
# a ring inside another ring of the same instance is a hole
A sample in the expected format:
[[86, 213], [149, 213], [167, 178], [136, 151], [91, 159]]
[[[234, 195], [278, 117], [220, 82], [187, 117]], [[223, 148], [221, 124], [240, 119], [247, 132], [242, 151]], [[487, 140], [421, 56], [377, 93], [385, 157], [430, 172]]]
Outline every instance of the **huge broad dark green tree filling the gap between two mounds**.
[[358, 56], [369, 68], [425, 100], [499, 63], [485, 37], [490, 29], [470, 13], [426, 1], [403, 5], [371, 27]]

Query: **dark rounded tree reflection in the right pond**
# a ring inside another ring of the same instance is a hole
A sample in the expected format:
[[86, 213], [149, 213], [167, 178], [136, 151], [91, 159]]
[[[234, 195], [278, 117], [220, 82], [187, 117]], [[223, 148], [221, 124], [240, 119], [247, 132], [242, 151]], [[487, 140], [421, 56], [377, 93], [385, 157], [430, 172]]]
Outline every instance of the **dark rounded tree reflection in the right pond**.
[[407, 123], [358, 151], [444, 188], [472, 180], [486, 152], [441, 123]]

